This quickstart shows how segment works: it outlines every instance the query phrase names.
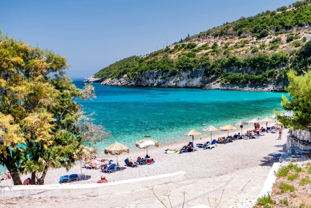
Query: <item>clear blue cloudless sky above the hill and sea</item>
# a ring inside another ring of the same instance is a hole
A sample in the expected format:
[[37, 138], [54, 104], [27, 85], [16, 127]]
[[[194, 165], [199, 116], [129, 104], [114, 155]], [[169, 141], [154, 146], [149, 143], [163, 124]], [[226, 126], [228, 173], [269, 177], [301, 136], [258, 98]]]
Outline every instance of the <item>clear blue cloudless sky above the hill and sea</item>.
[[3, 34], [67, 56], [70, 77], [295, 0], [4, 1]]

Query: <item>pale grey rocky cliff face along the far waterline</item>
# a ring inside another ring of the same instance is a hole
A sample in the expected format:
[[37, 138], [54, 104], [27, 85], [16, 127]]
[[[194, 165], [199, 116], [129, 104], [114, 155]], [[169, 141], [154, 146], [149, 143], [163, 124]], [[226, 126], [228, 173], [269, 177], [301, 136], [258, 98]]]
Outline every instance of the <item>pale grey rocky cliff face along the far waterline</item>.
[[204, 76], [204, 69], [178, 71], [176, 76], [168, 76], [168, 73], [153, 71], [138, 75], [135, 79], [128, 79], [127, 75], [117, 79], [95, 78], [91, 76], [84, 82], [100, 82], [101, 85], [113, 86], [142, 86], [142, 87], [179, 87], [179, 88], [203, 88], [203, 89], [228, 89], [251, 91], [284, 91], [288, 83], [276, 83], [271, 81], [266, 85], [235, 84], [223, 85], [217, 80]]

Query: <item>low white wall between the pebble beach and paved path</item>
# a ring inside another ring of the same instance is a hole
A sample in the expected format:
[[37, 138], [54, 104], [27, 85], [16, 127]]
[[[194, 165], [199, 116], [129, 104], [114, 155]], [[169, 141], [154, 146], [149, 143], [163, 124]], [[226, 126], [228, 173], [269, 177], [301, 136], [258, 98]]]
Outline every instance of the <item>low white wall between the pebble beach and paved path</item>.
[[158, 176], [133, 178], [123, 181], [92, 184], [54, 184], [28, 186], [0, 186], [0, 198], [16, 197], [60, 197], [60, 196], [99, 196], [120, 191], [131, 191], [144, 187], [158, 186], [165, 183], [183, 181], [186, 173], [183, 171]]

